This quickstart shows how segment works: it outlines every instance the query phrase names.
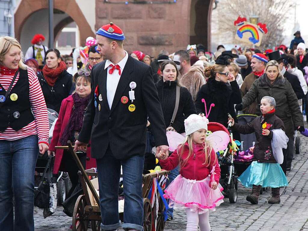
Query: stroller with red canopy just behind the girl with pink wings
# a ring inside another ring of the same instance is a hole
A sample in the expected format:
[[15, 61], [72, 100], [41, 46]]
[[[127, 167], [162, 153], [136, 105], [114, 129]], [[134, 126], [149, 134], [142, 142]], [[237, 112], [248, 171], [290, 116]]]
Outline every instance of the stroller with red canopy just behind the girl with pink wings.
[[[222, 192], [224, 196], [229, 197], [229, 202], [236, 203], [237, 201], [237, 177], [235, 177], [235, 174], [234, 174], [234, 163], [233, 163], [236, 150], [234, 150], [235, 149], [234, 142], [232, 142], [233, 135], [232, 135], [231, 129], [228, 130], [222, 124], [219, 124], [216, 122], [210, 122], [208, 124], [208, 131], [211, 131], [212, 134], [213, 132], [223, 131], [223, 132], [226, 132], [229, 136], [229, 139], [227, 140], [227, 144], [223, 144], [224, 147], [226, 147], [223, 152], [223, 155], [219, 156], [218, 158], [218, 162], [221, 168], [221, 178], [219, 180], [219, 183], [224, 188]], [[207, 139], [209, 139], [209, 137]], [[221, 139], [221, 142], [225, 143], [225, 141], [223, 141], [222, 139]], [[217, 143], [215, 143], [213, 146], [217, 146]], [[218, 148], [218, 149], [221, 149], [221, 148]], [[217, 149], [215, 151], [217, 151]]]

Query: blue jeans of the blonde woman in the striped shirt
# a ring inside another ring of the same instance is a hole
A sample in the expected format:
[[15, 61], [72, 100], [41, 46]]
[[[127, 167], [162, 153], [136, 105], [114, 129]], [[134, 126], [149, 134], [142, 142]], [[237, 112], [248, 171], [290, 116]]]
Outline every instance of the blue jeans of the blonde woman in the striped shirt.
[[38, 155], [37, 136], [0, 140], [0, 230], [34, 231], [34, 171]]

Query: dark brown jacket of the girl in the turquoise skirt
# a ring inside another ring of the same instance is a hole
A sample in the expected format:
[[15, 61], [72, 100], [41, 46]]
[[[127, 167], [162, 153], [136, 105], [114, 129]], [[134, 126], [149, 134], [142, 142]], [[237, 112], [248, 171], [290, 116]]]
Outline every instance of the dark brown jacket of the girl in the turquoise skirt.
[[[272, 125], [270, 127], [270, 134], [268, 136], [262, 135], [262, 124], [264, 123]], [[277, 163], [274, 155], [271, 141], [273, 139], [273, 129], [281, 128], [285, 131], [284, 124], [275, 113], [266, 114], [263, 116], [258, 116], [249, 124], [234, 124], [232, 129], [238, 131], [242, 134], [250, 134], [255, 132], [257, 142], [254, 146], [253, 150], [253, 160], [257, 160], [258, 162], [265, 163]]]

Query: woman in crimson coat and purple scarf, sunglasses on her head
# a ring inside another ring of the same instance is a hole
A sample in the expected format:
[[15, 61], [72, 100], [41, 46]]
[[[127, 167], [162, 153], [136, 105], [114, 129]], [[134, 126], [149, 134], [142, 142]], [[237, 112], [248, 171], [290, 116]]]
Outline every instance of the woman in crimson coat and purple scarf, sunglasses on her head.
[[[67, 150], [55, 149], [55, 146], [67, 145], [67, 141], [71, 140], [75, 143], [78, 134], [83, 124], [84, 112], [87, 109], [91, 93], [91, 76], [89, 72], [79, 71], [73, 77], [76, 85], [75, 93], [63, 99], [59, 112], [58, 120], [52, 135], [52, 140], [48, 154], [55, 156], [55, 164], [53, 173], [58, 171], [68, 172], [72, 182], [72, 188], [67, 195], [67, 198], [73, 192], [75, 186], [78, 184], [79, 171], [75, 160]], [[87, 152], [81, 150], [77, 152], [79, 160], [86, 169], [96, 167], [95, 159], [90, 157], [90, 148]]]

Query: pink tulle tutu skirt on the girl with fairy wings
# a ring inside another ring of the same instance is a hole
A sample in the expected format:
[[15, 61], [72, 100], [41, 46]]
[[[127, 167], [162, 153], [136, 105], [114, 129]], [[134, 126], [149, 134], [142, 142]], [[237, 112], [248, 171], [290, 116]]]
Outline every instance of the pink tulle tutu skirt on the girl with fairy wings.
[[210, 176], [203, 180], [188, 180], [178, 175], [166, 188], [164, 197], [170, 199], [170, 208], [190, 208], [192, 212], [198, 211], [199, 214], [209, 209], [215, 211], [215, 207], [224, 202], [221, 194], [223, 188], [218, 184], [215, 190], [211, 189], [209, 182]]

